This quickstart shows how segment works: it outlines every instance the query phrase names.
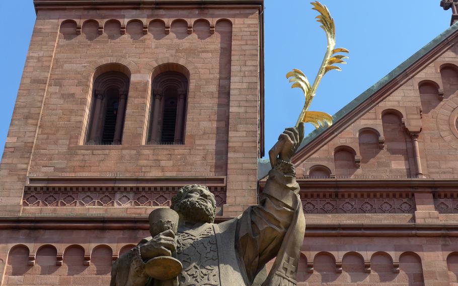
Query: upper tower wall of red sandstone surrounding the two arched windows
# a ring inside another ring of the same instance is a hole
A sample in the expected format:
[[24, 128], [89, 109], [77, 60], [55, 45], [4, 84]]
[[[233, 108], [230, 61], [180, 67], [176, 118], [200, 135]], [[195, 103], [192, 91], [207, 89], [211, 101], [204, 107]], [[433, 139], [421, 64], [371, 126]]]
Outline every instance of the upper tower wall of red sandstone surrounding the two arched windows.
[[[0, 213], [19, 214], [28, 177], [222, 178], [227, 213], [256, 203], [258, 22], [255, 8], [38, 11], [0, 167]], [[83, 145], [92, 75], [108, 63], [131, 73], [122, 145]], [[145, 145], [151, 75], [164, 63], [190, 72], [182, 146]]]

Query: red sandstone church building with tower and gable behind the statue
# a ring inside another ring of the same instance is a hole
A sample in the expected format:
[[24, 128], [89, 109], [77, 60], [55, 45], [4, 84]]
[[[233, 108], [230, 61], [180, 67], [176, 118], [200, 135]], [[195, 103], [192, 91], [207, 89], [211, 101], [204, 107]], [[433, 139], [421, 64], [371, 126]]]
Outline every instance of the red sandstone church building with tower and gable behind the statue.
[[[258, 203], [263, 0], [34, 5], [0, 165], [0, 285], [109, 285], [184, 185], [208, 186], [216, 222]], [[294, 156], [298, 285], [458, 285], [458, 3], [440, 5], [451, 26]]]

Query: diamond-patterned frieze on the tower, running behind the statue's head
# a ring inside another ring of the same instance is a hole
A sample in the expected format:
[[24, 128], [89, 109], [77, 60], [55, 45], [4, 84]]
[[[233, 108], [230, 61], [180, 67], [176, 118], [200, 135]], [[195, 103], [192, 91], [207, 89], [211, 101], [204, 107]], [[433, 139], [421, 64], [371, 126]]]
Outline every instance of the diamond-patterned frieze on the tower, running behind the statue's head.
[[[180, 187], [25, 187], [25, 207], [170, 206]], [[208, 187], [216, 205], [226, 202], [225, 187]]]

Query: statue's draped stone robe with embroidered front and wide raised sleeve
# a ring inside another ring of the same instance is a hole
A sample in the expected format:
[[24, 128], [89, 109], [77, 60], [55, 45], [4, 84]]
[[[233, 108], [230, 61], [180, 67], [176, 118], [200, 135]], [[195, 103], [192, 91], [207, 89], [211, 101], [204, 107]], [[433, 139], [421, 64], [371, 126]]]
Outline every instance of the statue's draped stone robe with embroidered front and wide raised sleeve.
[[[273, 169], [259, 205], [249, 207], [238, 218], [220, 224], [181, 225], [176, 236], [177, 258], [183, 264], [178, 285], [260, 285], [258, 280], [261, 275], [256, 277], [258, 273], [279, 251], [285, 252], [288, 241], [283, 240], [290, 225], [300, 229], [290, 230], [288, 237], [297, 233], [301, 236], [300, 242], [303, 239], [305, 224], [297, 224], [297, 221], [303, 221], [298, 191], [299, 186], [293, 176], [285, 176], [283, 172]], [[140, 244], [149, 239], [143, 239]], [[298, 251], [295, 250], [295, 267]], [[284, 256], [284, 253], [281, 255]], [[283, 267], [281, 261], [279, 268]], [[176, 280], [153, 281], [148, 278], [143, 263], [138, 248], [119, 257], [113, 265], [111, 285], [177, 284]]]

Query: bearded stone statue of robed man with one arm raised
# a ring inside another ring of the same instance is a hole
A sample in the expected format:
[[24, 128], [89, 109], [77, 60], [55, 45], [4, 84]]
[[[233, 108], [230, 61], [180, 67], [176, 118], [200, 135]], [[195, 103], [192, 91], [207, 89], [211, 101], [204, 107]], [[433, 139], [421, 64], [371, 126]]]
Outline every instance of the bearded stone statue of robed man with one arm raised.
[[[283, 131], [269, 151], [272, 170], [259, 205], [238, 218], [214, 224], [216, 203], [208, 188], [181, 188], [171, 205], [179, 215], [177, 233], [168, 229], [145, 238], [121, 255], [113, 264], [110, 285], [296, 285], [306, 224], [291, 157], [302, 138], [302, 123]], [[148, 261], [172, 254], [182, 263], [178, 277], [159, 280], [146, 274]], [[275, 257], [267, 275], [265, 264]]]

